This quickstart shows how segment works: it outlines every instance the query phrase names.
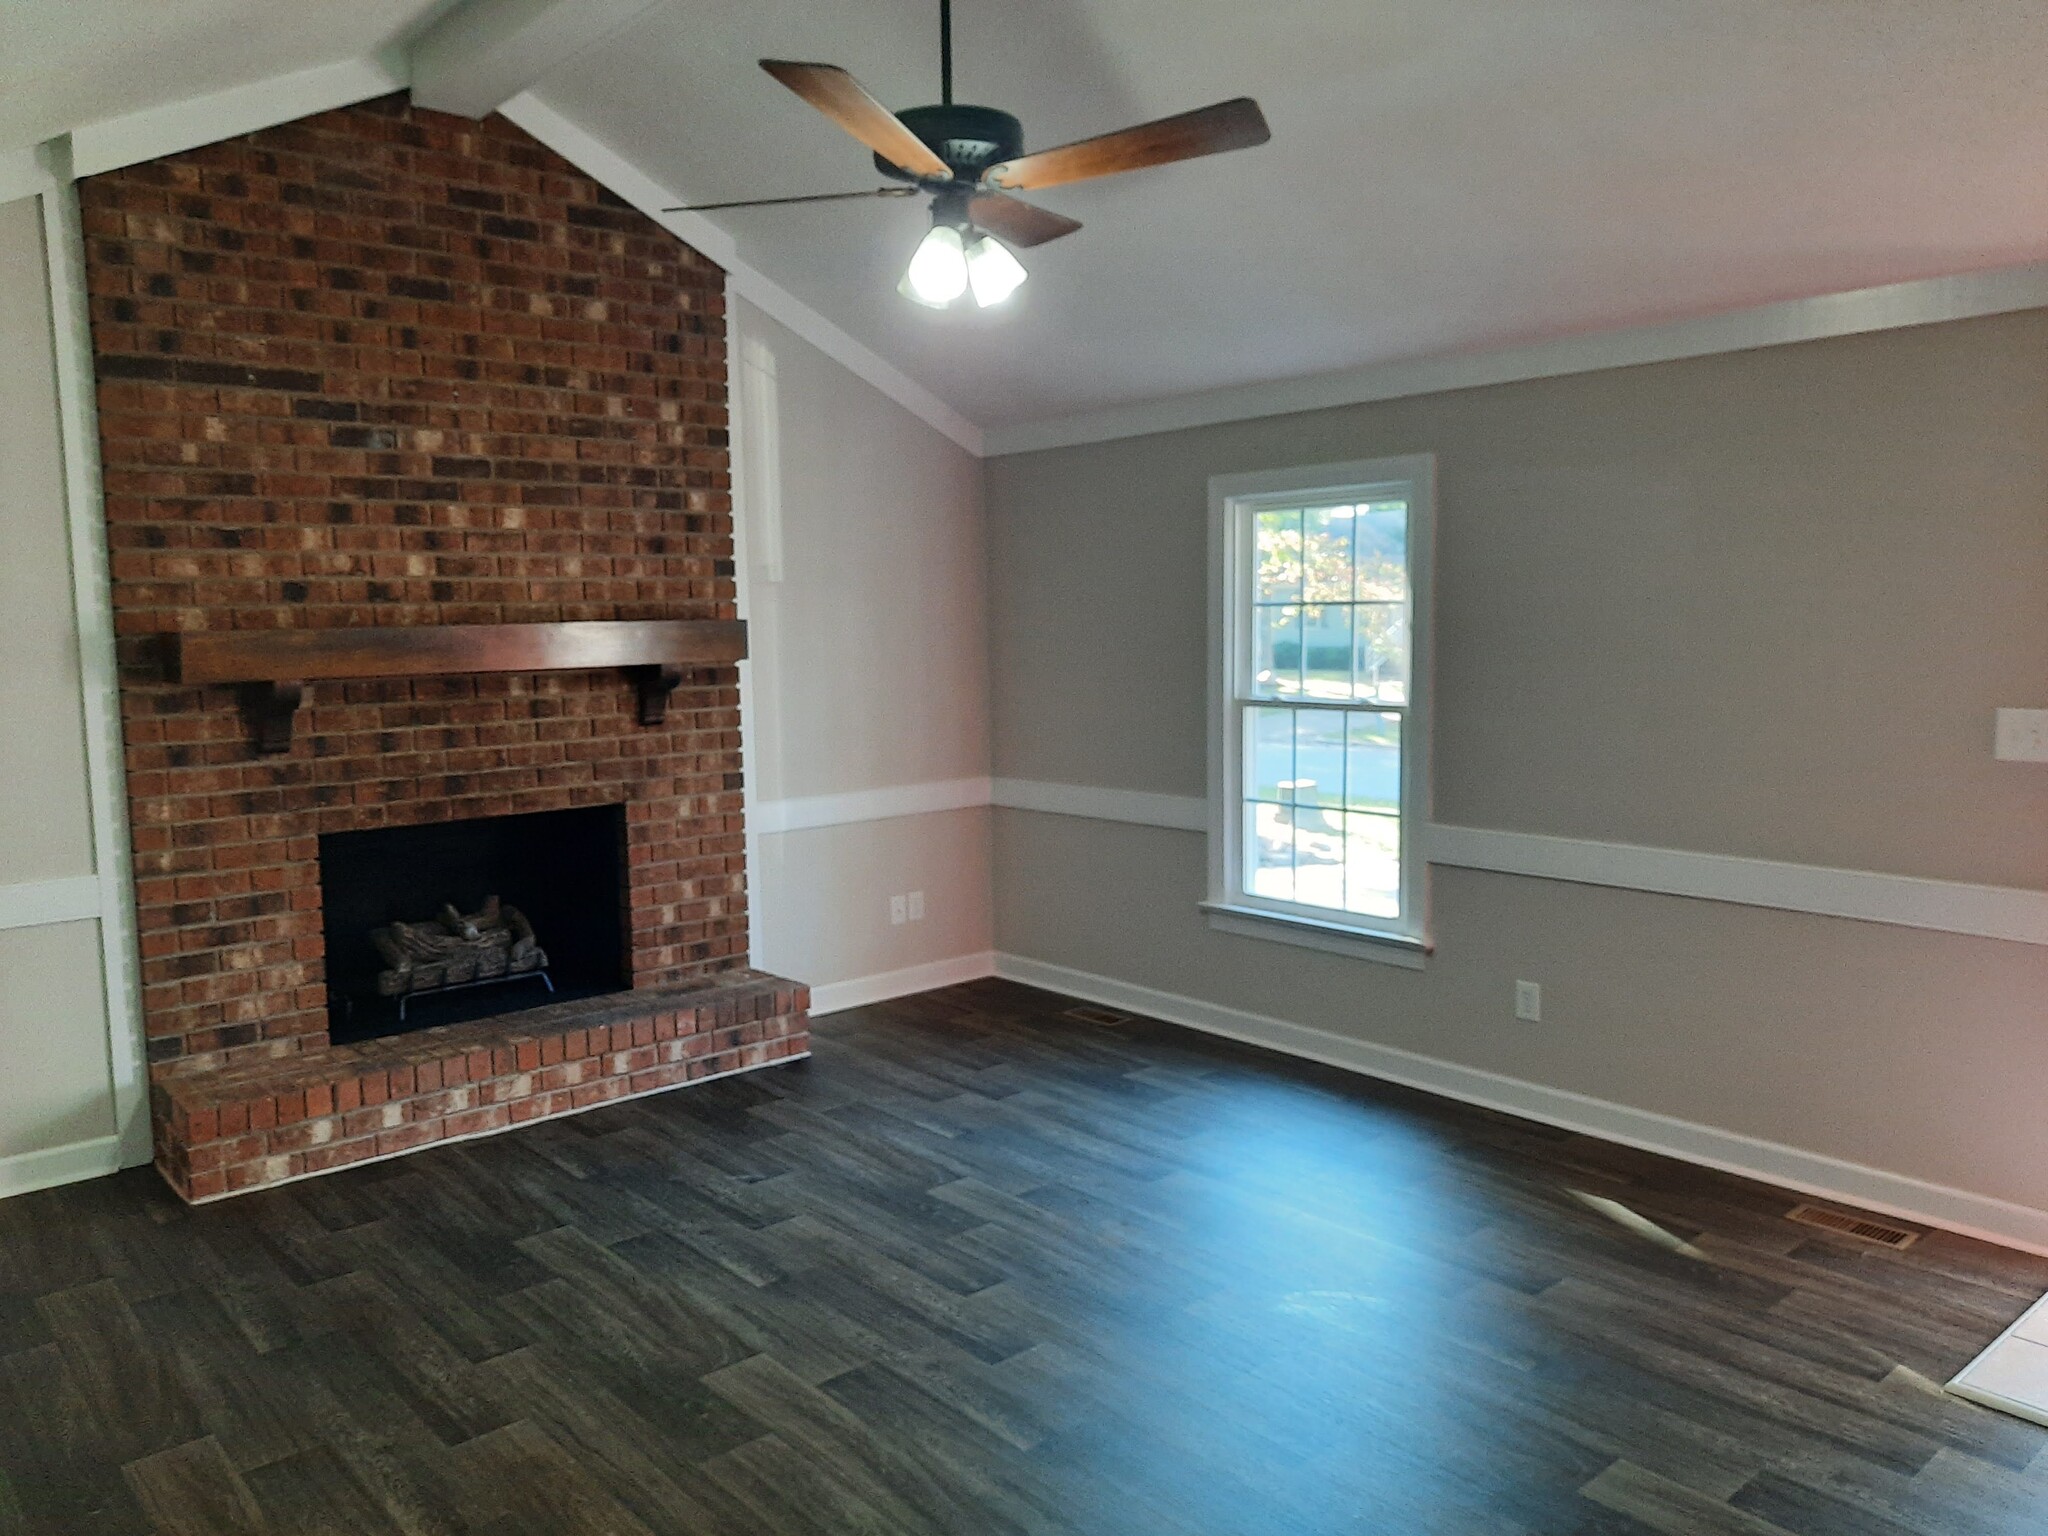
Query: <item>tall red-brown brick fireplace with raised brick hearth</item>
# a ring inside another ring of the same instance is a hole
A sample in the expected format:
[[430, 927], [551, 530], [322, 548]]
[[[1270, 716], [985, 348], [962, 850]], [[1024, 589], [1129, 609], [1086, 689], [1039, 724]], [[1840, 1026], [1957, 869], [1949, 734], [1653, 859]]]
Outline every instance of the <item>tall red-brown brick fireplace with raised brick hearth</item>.
[[[651, 725], [618, 668], [313, 680], [276, 752], [166, 639], [731, 621], [719, 268], [510, 123], [403, 98], [78, 190], [172, 1186], [805, 1055], [803, 989], [745, 969], [733, 666], [672, 672]], [[594, 807], [625, 987], [332, 1042], [360, 954], [328, 950], [324, 840]]]

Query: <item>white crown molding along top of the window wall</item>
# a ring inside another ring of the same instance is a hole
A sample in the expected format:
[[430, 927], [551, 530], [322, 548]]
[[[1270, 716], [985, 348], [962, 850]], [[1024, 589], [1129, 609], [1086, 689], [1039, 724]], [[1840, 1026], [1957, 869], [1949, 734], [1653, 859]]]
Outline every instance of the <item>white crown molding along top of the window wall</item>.
[[2048, 305], [2048, 262], [2003, 266], [1985, 272], [1929, 276], [1888, 283], [1876, 289], [1823, 293], [1810, 299], [1696, 315], [1663, 326], [1559, 336], [1532, 346], [1456, 356], [1425, 356], [1405, 362], [1374, 362], [1339, 373], [1204, 389], [1190, 395], [1145, 399], [1073, 416], [1055, 416], [1018, 426], [993, 426], [983, 434], [989, 459], [1012, 453], [1067, 449], [1079, 442], [1110, 442], [1149, 432], [1178, 432], [1190, 426], [1245, 422], [1260, 416], [1292, 416], [1362, 406], [1374, 399], [1436, 395], [1446, 389], [1554, 379], [1597, 369], [1630, 369], [1642, 362], [1675, 362], [1716, 352], [1747, 352], [1757, 346], [1815, 342], [1829, 336], [1931, 326], [1944, 319], [2003, 315]]

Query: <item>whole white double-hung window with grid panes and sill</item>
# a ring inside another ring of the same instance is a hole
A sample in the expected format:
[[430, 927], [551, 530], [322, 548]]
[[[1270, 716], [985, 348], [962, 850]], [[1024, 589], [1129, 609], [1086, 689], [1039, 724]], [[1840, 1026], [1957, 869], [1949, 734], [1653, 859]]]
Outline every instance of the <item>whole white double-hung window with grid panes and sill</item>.
[[1210, 481], [1219, 928], [1417, 963], [1427, 455]]

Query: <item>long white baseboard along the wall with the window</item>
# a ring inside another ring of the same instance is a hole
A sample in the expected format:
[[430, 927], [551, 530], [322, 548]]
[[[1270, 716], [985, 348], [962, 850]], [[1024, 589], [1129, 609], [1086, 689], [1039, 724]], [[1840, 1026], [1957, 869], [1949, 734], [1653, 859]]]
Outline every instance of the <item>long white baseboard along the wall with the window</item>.
[[1864, 1167], [1839, 1157], [1786, 1147], [1776, 1141], [1745, 1137], [1735, 1130], [1677, 1120], [1669, 1114], [1634, 1110], [1626, 1104], [1544, 1087], [1520, 1077], [1460, 1067], [1452, 1061], [1399, 1051], [1348, 1034], [1290, 1024], [1237, 1008], [1182, 997], [1171, 991], [1141, 987], [1130, 981], [1071, 971], [1063, 965], [1032, 961], [1022, 954], [997, 954], [995, 975], [1047, 991], [1085, 997], [1092, 1004], [1149, 1014], [1169, 1024], [1184, 1024], [1206, 1034], [1221, 1034], [1247, 1044], [1262, 1044], [1290, 1057], [1321, 1061], [1366, 1077], [1419, 1087], [1427, 1094], [1479, 1104], [1489, 1110], [1518, 1114], [1526, 1120], [1579, 1130], [1602, 1141], [1665, 1153], [1688, 1163], [1718, 1167], [1724, 1174], [1778, 1184], [1800, 1194], [1835, 1200], [1888, 1217], [1942, 1227], [1987, 1243], [2017, 1247], [2048, 1255], [2048, 1210], [2013, 1204], [1989, 1194], [1970, 1194], [1944, 1184]]

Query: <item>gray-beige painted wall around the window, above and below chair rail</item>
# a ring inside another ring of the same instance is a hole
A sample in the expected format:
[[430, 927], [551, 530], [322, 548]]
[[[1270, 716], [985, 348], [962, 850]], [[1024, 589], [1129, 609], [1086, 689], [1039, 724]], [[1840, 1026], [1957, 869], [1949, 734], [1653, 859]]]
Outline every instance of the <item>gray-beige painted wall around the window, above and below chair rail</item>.
[[[1206, 481], [1438, 455], [1434, 819], [2048, 887], [2048, 313], [987, 465], [993, 770], [1204, 793]], [[2048, 948], [1436, 870], [1423, 973], [995, 825], [997, 948], [2048, 1208]], [[1511, 1018], [1544, 985], [1542, 1026]]]

